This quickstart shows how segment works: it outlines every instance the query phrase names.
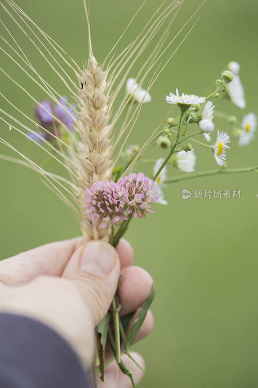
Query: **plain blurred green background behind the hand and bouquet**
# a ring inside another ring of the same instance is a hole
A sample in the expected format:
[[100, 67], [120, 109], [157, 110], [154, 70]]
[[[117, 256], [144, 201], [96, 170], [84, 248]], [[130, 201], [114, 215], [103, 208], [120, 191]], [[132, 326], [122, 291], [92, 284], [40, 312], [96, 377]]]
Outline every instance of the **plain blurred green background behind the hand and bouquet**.
[[[127, 43], [160, 4], [150, 0], [128, 31]], [[173, 25], [175, 34], [200, 4], [188, 0]], [[82, 64], [86, 57], [86, 26], [82, 0], [35, 3], [19, 0], [19, 5], [48, 34]], [[102, 61], [139, 6], [137, 0], [91, 0], [92, 44]], [[176, 87], [186, 93], [203, 95], [230, 60], [238, 61], [246, 91], [247, 108], [237, 109], [229, 102], [218, 108], [229, 114], [257, 109], [257, 13], [254, 0], [208, 0], [198, 12], [196, 27], [167, 65], [152, 89], [152, 104], [143, 107], [130, 143], [142, 143], [167, 112], [164, 97]], [[193, 20], [196, 20], [195, 17]], [[6, 23], [10, 19], [3, 15]], [[13, 24], [12, 24], [13, 26]], [[56, 81], [44, 61], [40, 61], [27, 39], [15, 27], [11, 30], [27, 49], [31, 62], [48, 76], [61, 94], [65, 86]], [[186, 31], [186, 30], [185, 30]], [[171, 47], [174, 50], [179, 43]], [[146, 52], [145, 58], [148, 56]], [[34, 62], [33, 62], [34, 61]], [[2, 67], [15, 80], [29, 88], [29, 81], [2, 55]], [[134, 73], [131, 73], [134, 75]], [[28, 83], [27, 83], [28, 82]], [[27, 114], [33, 102], [23, 98], [14, 84], [1, 77], [1, 89]], [[30, 83], [30, 92], [44, 97]], [[6, 107], [6, 104], [3, 104]], [[8, 108], [10, 113], [13, 113]], [[174, 113], [175, 114], [175, 113]], [[229, 130], [223, 122], [216, 128]], [[6, 125], [1, 136], [22, 147], [26, 155], [42, 162], [43, 155]], [[238, 147], [231, 143], [228, 167], [258, 162], [258, 143]], [[196, 146], [196, 170], [216, 168], [209, 150]], [[0, 152], [11, 155], [1, 145]], [[153, 149], [153, 155], [165, 152]], [[15, 156], [13, 154], [13, 156]], [[1, 233], [0, 257], [6, 258], [39, 244], [72, 238], [79, 234], [73, 213], [52, 194], [38, 176], [22, 166], [0, 161]], [[177, 175], [172, 168], [168, 176]], [[241, 190], [239, 200], [192, 198], [182, 200], [182, 189]], [[197, 178], [167, 187], [168, 206], [157, 205], [147, 220], [134, 222], [127, 239], [135, 248], [135, 264], [149, 271], [156, 283], [153, 304], [155, 328], [149, 339], [136, 346], [151, 372], [141, 388], [255, 388], [258, 386], [257, 352], [257, 206], [258, 175]]]

